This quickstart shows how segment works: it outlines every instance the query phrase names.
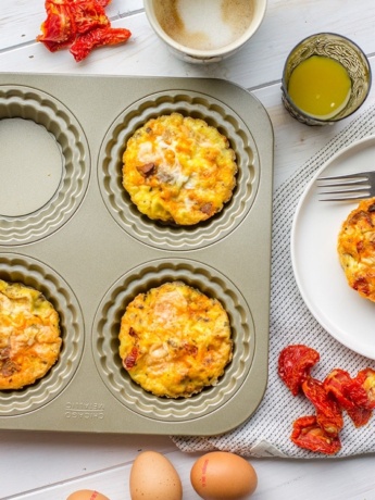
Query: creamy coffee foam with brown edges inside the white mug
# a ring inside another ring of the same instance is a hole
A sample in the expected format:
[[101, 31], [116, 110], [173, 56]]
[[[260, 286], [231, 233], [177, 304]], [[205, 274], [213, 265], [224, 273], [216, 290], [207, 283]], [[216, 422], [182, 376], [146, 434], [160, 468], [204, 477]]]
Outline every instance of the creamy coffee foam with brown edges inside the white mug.
[[178, 43], [215, 50], [243, 35], [253, 16], [251, 0], [154, 0], [162, 29]]

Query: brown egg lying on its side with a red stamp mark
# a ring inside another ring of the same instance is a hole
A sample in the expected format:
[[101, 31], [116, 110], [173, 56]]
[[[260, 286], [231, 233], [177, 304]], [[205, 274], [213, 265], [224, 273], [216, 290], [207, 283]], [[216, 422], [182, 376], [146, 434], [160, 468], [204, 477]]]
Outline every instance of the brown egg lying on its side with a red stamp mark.
[[204, 500], [243, 500], [250, 498], [258, 485], [253, 466], [227, 451], [200, 457], [191, 467], [190, 480]]

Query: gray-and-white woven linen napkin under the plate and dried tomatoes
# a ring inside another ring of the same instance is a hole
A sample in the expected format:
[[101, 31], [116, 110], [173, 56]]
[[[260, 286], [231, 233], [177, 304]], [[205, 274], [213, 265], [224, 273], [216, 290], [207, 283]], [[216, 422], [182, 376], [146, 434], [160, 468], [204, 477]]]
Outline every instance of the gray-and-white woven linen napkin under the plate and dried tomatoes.
[[[299, 198], [316, 170], [343, 147], [371, 135], [375, 135], [375, 105], [350, 122], [275, 191], [267, 389], [257, 412], [235, 430], [214, 437], [173, 436], [173, 441], [182, 451], [225, 450], [243, 457], [326, 457], [298, 448], [290, 440], [292, 422], [299, 416], [313, 414], [314, 410], [302, 395], [292, 397], [279, 379], [277, 360], [280, 350], [290, 343], [304, 343], [316, 349], [321, 361], [314, 366], [312, 375], [321, 380], [334, 367], [355, 376], [366, 366], [375, 368], [375, 362], [340, 345], [311, 315], [292, 273], [290, 229]], [[361, 428], [355, 428], [345, 414], [340, 438], [342, 448], [334, 457], [375, 452], [375, 413]]]

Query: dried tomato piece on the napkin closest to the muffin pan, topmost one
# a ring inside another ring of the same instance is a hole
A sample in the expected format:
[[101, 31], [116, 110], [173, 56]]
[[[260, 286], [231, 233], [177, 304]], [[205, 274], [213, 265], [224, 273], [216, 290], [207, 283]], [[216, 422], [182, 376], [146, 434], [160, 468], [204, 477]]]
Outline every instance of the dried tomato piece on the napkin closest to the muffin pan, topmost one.
[[284, 348], [278, 357], [278, 375], [293, 396], [301, 390], [303, 380], [320, 360], [314, 349], [296, 343]]

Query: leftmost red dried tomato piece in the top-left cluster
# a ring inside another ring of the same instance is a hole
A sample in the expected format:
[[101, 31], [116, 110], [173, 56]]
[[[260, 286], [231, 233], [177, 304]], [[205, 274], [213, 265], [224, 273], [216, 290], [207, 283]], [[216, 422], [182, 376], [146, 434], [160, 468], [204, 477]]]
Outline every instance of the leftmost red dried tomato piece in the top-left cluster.
[[76, 36], [76, 25], [68, 2], [46, 0], [47, 18], [41, 24], [42, 34], [37, 36], [48, 50], [55, 52], [71, 45]]

